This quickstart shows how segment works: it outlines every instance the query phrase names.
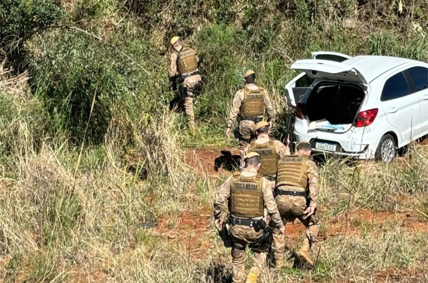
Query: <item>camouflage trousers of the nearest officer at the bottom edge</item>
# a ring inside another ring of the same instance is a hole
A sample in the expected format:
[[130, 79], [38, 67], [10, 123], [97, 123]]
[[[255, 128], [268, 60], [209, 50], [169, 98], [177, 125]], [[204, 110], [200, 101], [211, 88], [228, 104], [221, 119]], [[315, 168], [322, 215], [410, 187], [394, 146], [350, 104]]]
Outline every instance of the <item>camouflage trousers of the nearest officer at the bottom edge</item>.
[[253, 248], [252, 244], [263, 235], [263, 230], [256, 232], [253, 227], [233, 225], [230, 227], [230, 232], [232, 234], [232, 282], [242, 283], [247, 279], [245, 274], [245, 262], [247, 260], [245, 248], [247, 246], [254, 253], [253, 267], [251, 267], [250, 272], [259, 277], [260, 272], [266, 266], [267, 247]]

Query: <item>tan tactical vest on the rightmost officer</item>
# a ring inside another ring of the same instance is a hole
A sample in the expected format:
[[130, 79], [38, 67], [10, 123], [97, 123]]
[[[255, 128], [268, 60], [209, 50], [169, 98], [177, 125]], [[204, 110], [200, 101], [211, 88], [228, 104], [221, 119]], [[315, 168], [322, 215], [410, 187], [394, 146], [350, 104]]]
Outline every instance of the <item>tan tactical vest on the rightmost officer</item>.
[[306, 190], [308, 184], [308, 156], [289, 155], [281, 158], [278, 162], [278, 173], [276, 174], [276, 187], [296, 186]]

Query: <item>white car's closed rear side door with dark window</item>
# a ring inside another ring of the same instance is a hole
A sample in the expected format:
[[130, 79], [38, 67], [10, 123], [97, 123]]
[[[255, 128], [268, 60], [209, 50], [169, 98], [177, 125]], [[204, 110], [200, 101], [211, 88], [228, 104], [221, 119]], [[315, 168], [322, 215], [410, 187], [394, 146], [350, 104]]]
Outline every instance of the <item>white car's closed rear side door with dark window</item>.
[[397, 128], [398, 146], [404, 146], [420, 134], [421, 109], [419, 97], [411, 93], [411, 84], [403, 73], [392, 74], [385, 80], [380, 94], [380, 106], [388, 123]]

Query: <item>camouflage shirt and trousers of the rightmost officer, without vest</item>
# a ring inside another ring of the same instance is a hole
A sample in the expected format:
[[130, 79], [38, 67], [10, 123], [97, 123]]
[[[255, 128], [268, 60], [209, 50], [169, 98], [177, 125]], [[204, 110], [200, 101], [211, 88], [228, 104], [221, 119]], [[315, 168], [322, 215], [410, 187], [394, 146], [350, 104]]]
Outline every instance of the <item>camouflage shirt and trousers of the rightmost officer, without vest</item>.
[[[318, 184], [318, 169], [311, 159], [306, 159], [307, 170], [307, 193], [308, 199], [302, 196], [288, 196], [288, 195], [277, 195], [275, 200], [278, 205], [279, 213], [281, 214], [282, 222], [284, 225], [288, 221], [294, 221], [296, 218], [306, 226], [306, 233], [303, 239], [303, 245], [311, 246], [312, 242], [315, 242], [316, 236], [320, 229], [320, 218], [315, 210], [315, 213], [306, 219], [303, 212], [309, 206], [317, 207], [317, 198], [319, 192]], [[305, 190], [299, 186], [281, 186], [279, 189], [283, 191], [291, 192], [304, 192]], [[272, 250], [274, 251], [275, 261], [282, 264], [283, 254], [285, 249], [285, 236], [273, 227], [273, 243]]]

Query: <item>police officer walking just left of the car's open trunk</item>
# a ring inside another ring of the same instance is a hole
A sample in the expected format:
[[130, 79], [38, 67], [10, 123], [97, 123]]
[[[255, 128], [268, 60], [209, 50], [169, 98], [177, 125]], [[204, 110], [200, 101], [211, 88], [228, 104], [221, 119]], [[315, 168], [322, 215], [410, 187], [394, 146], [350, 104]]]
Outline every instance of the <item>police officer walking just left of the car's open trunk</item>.
[[226, 137], [229, 139], [235, 119], [238, 117], [239, 150], [241, 152], [241, 167], [244, 165], [242, 157], [245, 156], [244, 148], [253, 138], [256, 124], [262, 120], [263, 113], [268, 113], [268, 122], [273, 119], [273, 107], [265, 89], [255, 85], [256, 74], [249, 70], [244, 74], [244, 88], [237, 91], [232, 100], [227, 119]]

